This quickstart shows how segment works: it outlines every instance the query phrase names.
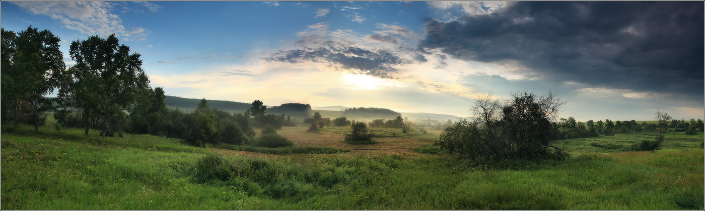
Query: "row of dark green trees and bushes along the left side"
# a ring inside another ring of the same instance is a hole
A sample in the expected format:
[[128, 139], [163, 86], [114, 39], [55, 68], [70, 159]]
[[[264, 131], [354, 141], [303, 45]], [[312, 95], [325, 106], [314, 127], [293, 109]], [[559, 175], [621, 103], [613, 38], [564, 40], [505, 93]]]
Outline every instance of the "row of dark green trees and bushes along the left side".
[[[68, 68], [59, 41], [49, 30], [30, 26], [16, 34], [2, 28], [3, 124], [33, 124], [38, 130], [53, 110], [56, 129], [83, 128], [85, 136], [90, 129], [102, 137], [124, 131], [203, 146], [252, 143], [252, 127], [280, 129], [297, 123], [290, 116], [266, 114], [259, 100], [235, 114], [209, 108], [205, 99], [190, 113], [168, 109], [164, 89], [149, 86], [140, 54], [120, 44], [115, 34], [72, 41], [69, 52], [75, 65]], [[54, 89], [56, 98], [44, 97]]]

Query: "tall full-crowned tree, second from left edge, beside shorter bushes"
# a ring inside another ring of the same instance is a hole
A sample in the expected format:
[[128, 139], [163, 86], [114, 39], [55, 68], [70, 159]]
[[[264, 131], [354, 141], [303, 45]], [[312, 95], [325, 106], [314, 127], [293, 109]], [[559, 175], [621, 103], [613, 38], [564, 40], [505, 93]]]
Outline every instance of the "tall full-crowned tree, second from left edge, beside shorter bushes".
[[[84, 108], [85, 119], [97, 117], [105, 137], [111, 118], [133, 106], [140, 87], [149, 82], [140, 54], [130, 54], [130, 47], [118, 44], [115, 34], [107, 39], [92, 36], [73, 41], [69, 52], [76, 62], [71, 89], [80, 102], [77, 106]], [[86, 136], [88, 129], [86, 126]]]

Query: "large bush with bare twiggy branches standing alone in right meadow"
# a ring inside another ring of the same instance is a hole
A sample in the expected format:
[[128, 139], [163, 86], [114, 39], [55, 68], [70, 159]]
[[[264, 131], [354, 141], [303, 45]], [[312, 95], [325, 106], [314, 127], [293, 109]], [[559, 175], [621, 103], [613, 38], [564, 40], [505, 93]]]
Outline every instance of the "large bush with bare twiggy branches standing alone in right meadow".
[[526, 91], [512, 94], [501, 105], [491, 95], [476, 99], [474, 122], [460, 120], [446, 128], [439, 146], [449, 153], [475, 159], [533, 159], [553, 154], [548, 147], [556, 136], [551, 124], [558, 108], [565, 103], [552, 93], [536, 96]]

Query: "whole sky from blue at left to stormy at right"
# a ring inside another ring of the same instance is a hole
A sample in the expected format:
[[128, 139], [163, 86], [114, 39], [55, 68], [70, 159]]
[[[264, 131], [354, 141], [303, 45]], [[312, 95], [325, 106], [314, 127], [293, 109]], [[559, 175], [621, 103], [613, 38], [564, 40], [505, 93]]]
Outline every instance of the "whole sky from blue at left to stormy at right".
[[[470, 117], [549, 92], [576, 120], [704, 119], [702, 1], [2, 1], [1, 25], [116, 34], [185, 98]], [[55, 94], [53, 94], [55, 96]]]

